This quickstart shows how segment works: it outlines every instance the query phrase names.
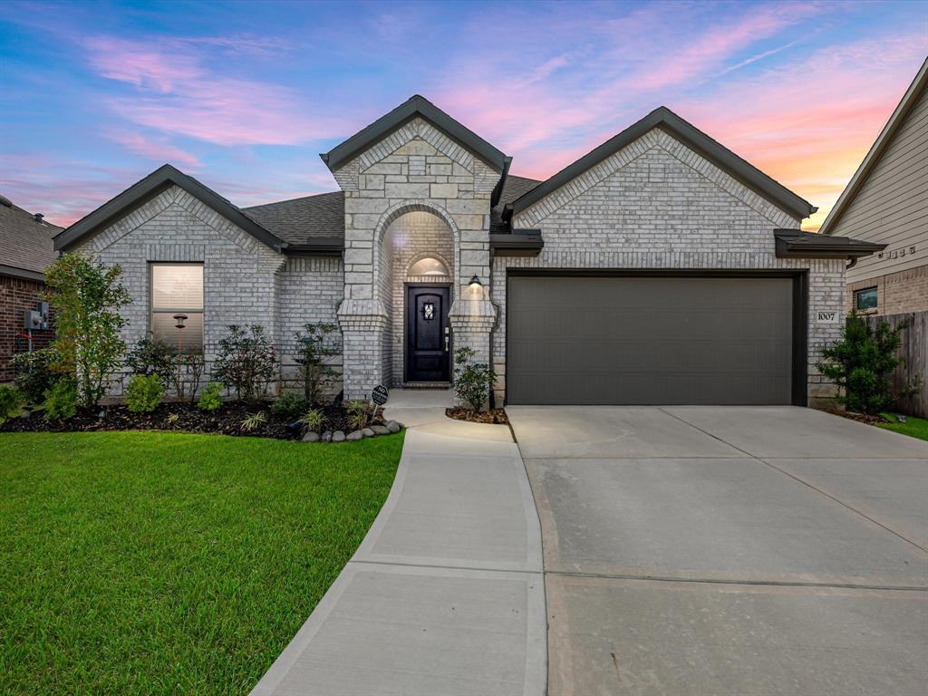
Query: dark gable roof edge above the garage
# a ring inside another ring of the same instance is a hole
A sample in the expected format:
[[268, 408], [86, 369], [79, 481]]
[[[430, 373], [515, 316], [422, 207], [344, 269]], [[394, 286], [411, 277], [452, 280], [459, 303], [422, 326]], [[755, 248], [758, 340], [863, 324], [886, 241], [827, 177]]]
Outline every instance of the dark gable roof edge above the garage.
[[687, 147], [699, 152], [702, 157], [713, 162], [715, 166], [740, 181], [741, 184], [751, 188], [757, 194], [788, 213], [793, 213], [799, 218], [806, 218], [818, 210], [807, 200], [800, 198], [793, 191], [761, 172], [753, 164], [742, 160], [734, 152], [715, 142], [692, 123], [684, 121], [666, 107], [659, 107], [640, 121], [625, 128], [619, 135], [615, 135], [604, 142], [599, 148], [588, 152], [579, 160], [574, 161], [573, 164], [569, 164], [560, 172], [554, 174], [547, 181], [542, 182], [522, 197], [513, 201], [507, 207], [506, 216], [511, 218], [511, 215], [520, 213], [542, 200], [548, 194], [573, 181], [586, 170], [611, 157], [653, 128], [660, 128], [673, 135], [685, 143]]

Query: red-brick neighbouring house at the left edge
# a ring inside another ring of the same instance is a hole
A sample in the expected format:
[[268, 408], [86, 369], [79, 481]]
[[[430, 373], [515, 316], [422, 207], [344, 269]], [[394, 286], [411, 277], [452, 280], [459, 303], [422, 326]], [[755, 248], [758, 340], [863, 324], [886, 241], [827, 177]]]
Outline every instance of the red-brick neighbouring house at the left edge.
[[[0, 384], [13, 379], [10, 358], [29, 350], [25, 313], [45, 300], [45, 267], [58, 258], [52, 237], [61, 227], [42, 218], [0, 196]], [[44, 347], [53, 335], [33, 330], [32, 346]]]

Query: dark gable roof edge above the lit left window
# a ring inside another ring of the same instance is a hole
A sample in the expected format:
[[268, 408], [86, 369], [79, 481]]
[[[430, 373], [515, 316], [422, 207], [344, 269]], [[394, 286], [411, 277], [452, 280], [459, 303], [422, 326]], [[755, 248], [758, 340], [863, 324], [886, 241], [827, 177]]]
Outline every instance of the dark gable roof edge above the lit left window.
[[63, 251], [68, 249], [80, 239], [110, 225], [127, 213], [131, 213], [135, 208], [171, 186], [183, 188], [204, 205], [208, 205], [216, 213], [223, 215], [230, 222], [235, 223], [252, 237], [272, 249], [283, 251], [287, 246], [287, 243], [281, 238], [268, 232], [264, 226], [255, 222], [249, 215], [243, 213], [241, 209], [224, 199], [212, 188], [203, 186], [192, 176], [184, 174], [170, 164], [164, 164], [141, 181], [126, 188], [116, 198], [107, 201], [93, 213], [84, 216], [63, 232], [60, 232], [55, 237], [55, 250]]

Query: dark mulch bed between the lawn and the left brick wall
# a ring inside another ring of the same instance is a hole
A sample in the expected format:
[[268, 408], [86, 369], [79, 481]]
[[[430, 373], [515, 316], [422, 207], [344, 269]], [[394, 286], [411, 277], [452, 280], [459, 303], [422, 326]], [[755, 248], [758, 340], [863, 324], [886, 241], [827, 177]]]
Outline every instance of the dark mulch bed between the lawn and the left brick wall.
[[[326, 414], [325, 430], [352, 431], [344, 408], [320, 408]], [[103, 418], [99, 418], [101, 411], [105, 414]], [[252, 431], [242, 430], [242, 420], [258, 411], [264, 411], [267, 420]], [[0, 432], [175, 431], [299, 440], [303, 432], [287, 430], [287, 425], [294, 420], [274, 415], [270, 402], [253, 406], [227, 402], [215, 413], [205, 413], [191, 404], [175, 402], [161, 404], [151, 413], [133, 413], [125, 406], [100, 406], [90, 411], [82, 409], [74, 418], [65, 421], [48, 421], [43, 418], [42, 411], [34, 411], [28, 416], [0, 424]], [[378, 417], [374, 422], [382, 424], [383, 419]]]

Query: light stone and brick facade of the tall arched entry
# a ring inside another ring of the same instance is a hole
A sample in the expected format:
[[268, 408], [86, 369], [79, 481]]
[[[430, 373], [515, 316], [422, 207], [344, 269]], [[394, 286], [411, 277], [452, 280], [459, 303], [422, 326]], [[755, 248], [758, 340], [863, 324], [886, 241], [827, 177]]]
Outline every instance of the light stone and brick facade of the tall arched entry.
[[[500, 173], [422, 118], [414, 118], [346, 162], [335, 172], [345, 192], [345, 299], [339, 309], [344, 337], [345, 394], [365, 397], [381, 382], [402, 379], [395, 343], [397, 284], [403, 255], [393, 253], [388, 235], [406, 213], [428, 213], [453, 240], [451, 326], [456, 345], [471, 345], [489, 359], [495, 310], [467, 290], [476, 275], [490, 276], [490, 196]], [[430, 223], [434, 225], [434, 223]], [[431, 233], [430, 233], [431, 234]], [[426, 238], [420, 253], [429, 249]], [[436, 244], [437, 244], [436, 239]], [[400, 269], [397, 270], [397, 264]]]

